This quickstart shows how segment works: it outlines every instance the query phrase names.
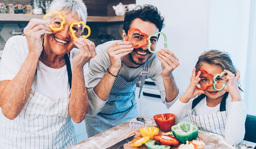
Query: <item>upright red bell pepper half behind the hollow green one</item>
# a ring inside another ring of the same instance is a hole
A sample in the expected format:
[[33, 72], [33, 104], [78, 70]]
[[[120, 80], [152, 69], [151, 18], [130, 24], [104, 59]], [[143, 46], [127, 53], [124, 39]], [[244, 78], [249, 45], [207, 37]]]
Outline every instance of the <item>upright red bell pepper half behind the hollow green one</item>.
[[165, 114], [157, 114], [153, 116], [156, 125], [162, 130], [162, 131], [169, 131], [171, 130], [171, 127], [175, 124], [175, 116], [171, 113], [165, 113]]

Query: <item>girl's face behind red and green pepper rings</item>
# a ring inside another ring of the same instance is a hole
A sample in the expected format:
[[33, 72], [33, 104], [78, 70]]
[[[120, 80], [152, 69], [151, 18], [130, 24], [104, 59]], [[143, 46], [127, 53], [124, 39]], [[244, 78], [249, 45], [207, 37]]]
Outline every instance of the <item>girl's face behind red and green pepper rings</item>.
[[[207, 71], [207, 73], [212, 74], [213, 76], [215, 74], [220, 74], [222, 73], [223, 69], [221, 67], [215, 66], [215, 65], [211, 65], [208, 63], [204, 63], [200, 70], [205, 70]], [[216, 88], [219, 86], [219, 84], [222, 86], [222, 84], [226, 84], [226, 80], [223, 76], [218, 76], [216, 77], [216, 82], [218, 82], [216, 84]], [[212, 77], [207, 76], [205, 73], [201, 72], [200, 74], [200, 81], [199, 84], [201, 86], [201, 88], [205, 88], [208, 84], [212, 84]], [[205, 95], [207, 96], [208, 99], [222, 99], [222, 96], [224, 95], [226, 91], [222, 90], [222, 91], [216, 91], [212, 88], [212, 86], [209, 86], [206, 90], [205, 90]]]

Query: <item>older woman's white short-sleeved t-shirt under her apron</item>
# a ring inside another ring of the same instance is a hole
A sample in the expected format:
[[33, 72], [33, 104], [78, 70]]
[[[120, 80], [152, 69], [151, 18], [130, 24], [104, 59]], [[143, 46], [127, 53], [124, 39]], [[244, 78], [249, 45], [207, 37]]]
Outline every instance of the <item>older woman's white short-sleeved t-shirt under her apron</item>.
[[[77, 55], [79, 49], [73, 48], [70, 52], [70, 63]], [[28, 55], [28, 44], [25, 36], [13, 36], [5, 44], [3, 57], [0, 61], [0, 81], [12, 80]], [[84, 80], [86, 86], [88, 64], [84, 65]], [[61, 95], [69, 93], [69, 82], [66, 65], [59, 69], [53, 69], [38, 61], [37, 72], [34, 76], [32, 89], [42, 95], [56, 101]]]

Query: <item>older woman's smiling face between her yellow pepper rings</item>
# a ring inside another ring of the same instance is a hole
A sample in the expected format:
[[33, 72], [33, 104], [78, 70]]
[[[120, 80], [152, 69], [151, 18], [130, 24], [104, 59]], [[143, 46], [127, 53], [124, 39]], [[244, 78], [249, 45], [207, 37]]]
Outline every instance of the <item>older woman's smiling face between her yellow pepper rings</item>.
[[73, 37], [71, 32], [69, 31], [69, 26], [73, 22], [81, 21], [78, 18], [78, 15], [75, 13], [74, 15], [71, 12], [67, 12], [66, 10], [59, 11], [61, 15], [65, 18], [66, 22], [63, 25], [63, 29], [60, 31], [53, 31], [52, 34], [45, 35], [44, 45], [45, 50], [50, 50], [56, 55], [64, 55], [67, 52], [70, 52], [74, 47]]

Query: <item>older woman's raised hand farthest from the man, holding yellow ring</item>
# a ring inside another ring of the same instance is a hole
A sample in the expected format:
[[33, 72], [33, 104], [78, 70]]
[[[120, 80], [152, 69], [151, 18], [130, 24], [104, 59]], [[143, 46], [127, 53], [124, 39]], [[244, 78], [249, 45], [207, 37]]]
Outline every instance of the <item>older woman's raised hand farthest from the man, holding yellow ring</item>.
[[24, 28], [24, 35], [28, 42], [29, 52], [41, 54], [43, 50], [44, 34], [51, 34], [52, 30], [49, 25], [42, 19], [31, 19]]

